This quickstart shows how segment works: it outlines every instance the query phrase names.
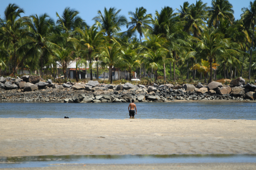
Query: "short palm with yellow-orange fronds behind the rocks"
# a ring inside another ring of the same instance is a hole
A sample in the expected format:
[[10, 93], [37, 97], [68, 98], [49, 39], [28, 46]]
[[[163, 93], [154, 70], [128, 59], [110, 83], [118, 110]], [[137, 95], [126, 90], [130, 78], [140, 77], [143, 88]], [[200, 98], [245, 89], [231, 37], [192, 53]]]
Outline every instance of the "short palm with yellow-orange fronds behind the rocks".
[[[219, 66], [219, 64], [212, 63], [211, 66], [212, 66], [213, 70], [217, 70], [217, 66]], [[201, 65], [200, 64], [196, 64], [196, 65], [192, 66], [190, 68], [190, 70], [198, 70], [199, 72], [203, 72], [204, 73], [204, 83], [207, 83], [207, 81], [206, 81], [206, 74], [208, 74], [208, 72], [211, 70], [210, 69], [210, 62], [201, 59]]]

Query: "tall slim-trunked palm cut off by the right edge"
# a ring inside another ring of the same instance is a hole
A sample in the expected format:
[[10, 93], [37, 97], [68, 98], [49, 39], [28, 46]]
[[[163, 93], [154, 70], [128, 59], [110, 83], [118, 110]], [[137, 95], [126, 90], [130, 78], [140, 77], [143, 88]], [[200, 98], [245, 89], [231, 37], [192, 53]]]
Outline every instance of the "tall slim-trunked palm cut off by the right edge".
[[253, 37], [255, 31], [255, 24], [256, 24], [256, 0], [250, 2], [250, 9], [243, 8], [243, 14], [241, 15], [242, 20], [244, 21], [245, 25], [250, 25], [252, 27], [252, 45], [251, 45], [251, 56], [250, 56], [250, 63], [249, 63], [249, 81], [251, 79], [251, 62], [252, 62], [252, 52], [253, 52]]

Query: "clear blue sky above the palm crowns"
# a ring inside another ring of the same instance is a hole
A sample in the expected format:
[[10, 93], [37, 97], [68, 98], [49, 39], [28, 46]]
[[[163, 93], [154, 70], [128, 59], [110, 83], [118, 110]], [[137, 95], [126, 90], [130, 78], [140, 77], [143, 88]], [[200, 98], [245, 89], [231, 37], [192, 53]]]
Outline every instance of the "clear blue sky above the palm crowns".
[[[196, 3], [196, 0], [186, 1], [188, 1], [189, 4]], [[240, 18], [242, 13], [241, 8], [249, 7], [250, 2], [250, 0], [229, 1], [233, 5], [234, 16], [236, 19]], [[4, 9], [9, 3], [15, 3], [19, 5], [20, 8], [23, 8], [25, 11], [25, 15], [23, 16], [48, 13], [48, 15], [55, 21], [57, 19], [56, 12], [61, 15], [65, 7], [70, 7], [79, 11], [79, 16], [82, 17], [87, 24], [92, 25], [94, 24], [94, 21], [92, 20], [93, 17], [97, 16], [98, 10], [103, 11], [104, 7], [115, 7], [116, 9], [121, 9], [120, 14], [125, 15], [128, 19], [128, 11], [134, 12], [136, 7], [144, 7], [147, 9], [148, 13], [151, 13], [154, 16], [155, 11], [161, 11], [164, 6], [169, 6], [173, 9], [180, 9], [180, 5], [182, 5], [183, 2], [184, 1], [179, 0], [1, 0], [0, 17], [3, 18]], [[211, 6], [211, 0], [203, 0], [203, 2], [207, 3], [208, 6]]]

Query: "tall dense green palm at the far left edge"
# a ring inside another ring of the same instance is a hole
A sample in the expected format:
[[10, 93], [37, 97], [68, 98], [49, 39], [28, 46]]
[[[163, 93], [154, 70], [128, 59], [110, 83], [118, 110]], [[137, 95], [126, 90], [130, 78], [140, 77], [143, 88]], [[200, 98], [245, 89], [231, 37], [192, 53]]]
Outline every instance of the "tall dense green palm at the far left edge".
[[[23, 9], [16, 4], [9, 4], [4, 11], [4, 20], [2, 21], [2, 30], [0, 39], [1, 43], [5, 44], [5, 48], [10, 49], [11, 61], [13, 62], [14, 76], [17, 67], [20, 63], [20, 55], [18, 55], [18, 48], [20, 47], [20, 40], [22, 39], [22, 32], [24, 31], [24, 19], [20, 14], [24, 13]], [[13, 49], [13, 50], [12, 50]]]

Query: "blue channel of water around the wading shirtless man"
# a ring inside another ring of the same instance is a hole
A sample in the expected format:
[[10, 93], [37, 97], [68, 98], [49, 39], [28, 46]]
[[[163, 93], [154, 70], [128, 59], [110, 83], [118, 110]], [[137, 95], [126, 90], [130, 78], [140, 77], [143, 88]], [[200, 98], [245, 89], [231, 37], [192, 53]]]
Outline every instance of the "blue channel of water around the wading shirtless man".
[[[256, 120], [256, 103], [136, 103], [141, 119]], [[0, 103], [0, 118], [128, 118], [128, 103]]]

